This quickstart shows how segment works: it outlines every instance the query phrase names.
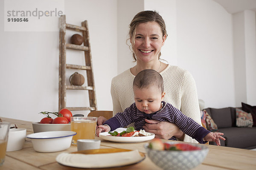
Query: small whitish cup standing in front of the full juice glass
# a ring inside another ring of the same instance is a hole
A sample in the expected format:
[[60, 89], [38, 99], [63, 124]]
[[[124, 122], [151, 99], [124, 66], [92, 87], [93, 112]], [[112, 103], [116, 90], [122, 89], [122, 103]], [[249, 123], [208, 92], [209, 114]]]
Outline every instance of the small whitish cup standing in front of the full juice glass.
[[96, 139], [78, 139], [77, 150], [99, 149], [100, 140]]

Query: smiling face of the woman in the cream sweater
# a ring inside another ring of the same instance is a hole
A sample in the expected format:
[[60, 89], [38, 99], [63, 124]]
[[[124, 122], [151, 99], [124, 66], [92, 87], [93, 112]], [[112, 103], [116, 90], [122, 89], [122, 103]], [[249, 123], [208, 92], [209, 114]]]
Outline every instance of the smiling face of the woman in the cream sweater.
[[141, 62], [158, 60], [165, 37], [158, 23], [140, 23], [136, 28], [134, 44], [132, 44], [137, 60]]

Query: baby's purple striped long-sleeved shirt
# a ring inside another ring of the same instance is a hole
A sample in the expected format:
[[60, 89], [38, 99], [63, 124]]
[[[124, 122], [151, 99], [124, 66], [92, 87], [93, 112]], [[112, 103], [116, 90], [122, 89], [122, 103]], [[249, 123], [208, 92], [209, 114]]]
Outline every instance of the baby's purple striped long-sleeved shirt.
[[[124, 112], [116, 113], [114, 117], [108, 119], [105, 123], [111, 127], [111, 131], [118, 127], [125, 127], [134, 122], [135, 130], [143, 129], [145, 125], [145, 119], [154, 119], [158, 121], [168, 121], [177, 125], [180, 130], [196, 139], [199, 143], [206, 143], [203, 141], [204, 136], [210, 133], [204, 127], [201, 127], [197, 122], [188, 116], [181, 113], [181, 111], [175, 108], [170, 103], [162, 102], [163, 108], [155, 113], [146, 114], [139, 111], [133, 103], [129, 108], [126, 108]], [[177, 140], [175, 136], [172, 136], [170, 140]]]

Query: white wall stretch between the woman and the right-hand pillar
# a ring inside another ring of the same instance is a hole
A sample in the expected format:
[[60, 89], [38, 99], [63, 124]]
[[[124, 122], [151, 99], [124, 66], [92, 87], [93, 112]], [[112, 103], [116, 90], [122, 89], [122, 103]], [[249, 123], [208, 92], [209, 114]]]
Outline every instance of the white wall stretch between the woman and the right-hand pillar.
[[212, 0], [177, 0], [177, 54], [205, 107], [235, 106], [231, 14]]

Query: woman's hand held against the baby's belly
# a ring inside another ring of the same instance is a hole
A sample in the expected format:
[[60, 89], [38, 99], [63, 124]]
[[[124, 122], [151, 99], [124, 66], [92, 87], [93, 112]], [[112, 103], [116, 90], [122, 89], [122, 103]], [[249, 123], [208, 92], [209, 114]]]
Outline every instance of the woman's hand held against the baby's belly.
[[183, 141], [184, 133], [175, 124], [170, 122], [160, 122], [157, 120], [145, 119], [146, 123], [143, 126], [146, 132], [155, 134], [156, 138], [170, 139], [172, 136]]

